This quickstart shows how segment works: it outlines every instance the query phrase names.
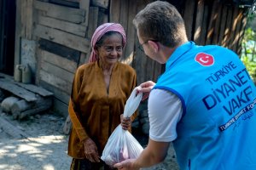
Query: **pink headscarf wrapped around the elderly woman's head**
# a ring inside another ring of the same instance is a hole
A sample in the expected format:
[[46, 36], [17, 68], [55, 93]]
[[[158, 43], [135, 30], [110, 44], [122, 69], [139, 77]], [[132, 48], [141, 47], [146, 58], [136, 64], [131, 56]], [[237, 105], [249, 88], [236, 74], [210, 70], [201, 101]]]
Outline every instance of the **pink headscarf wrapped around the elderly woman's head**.
[[91, 45], [92, 50], [91, 50], [91, 53], [90, 53], [89, 63], [90, 62], [95, 62], [98, 59], [96, 51], [94, 50], [95, 44], [108, 31], [117, 31], [117, 32], [119, 32], [123, 37], [123, 46], [125, 47], [126, 36], [125, 36], [125, 30], [124, 30], [123, 26], [121, 26], [120, 24], [117, 24], [117, 23], [102, 24], [101, 26], [97, 27], [96, 31], [93, 33], [93, 36], [91, 38], [90, 45]]

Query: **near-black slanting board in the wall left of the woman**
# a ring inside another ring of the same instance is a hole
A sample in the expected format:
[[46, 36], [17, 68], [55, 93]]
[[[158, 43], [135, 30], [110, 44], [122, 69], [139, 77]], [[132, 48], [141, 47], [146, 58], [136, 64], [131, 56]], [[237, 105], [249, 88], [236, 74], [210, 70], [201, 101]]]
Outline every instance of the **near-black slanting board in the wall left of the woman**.
[[40, 44], [40, 48], [44, 49], [45, 51], [59, 55], [62, 58], [72, 60], [75, 63], [79, 62], [80, 52], [78, 50], [67, 48], [59, 43], [51, 42], [42, 38], [38, 43]]

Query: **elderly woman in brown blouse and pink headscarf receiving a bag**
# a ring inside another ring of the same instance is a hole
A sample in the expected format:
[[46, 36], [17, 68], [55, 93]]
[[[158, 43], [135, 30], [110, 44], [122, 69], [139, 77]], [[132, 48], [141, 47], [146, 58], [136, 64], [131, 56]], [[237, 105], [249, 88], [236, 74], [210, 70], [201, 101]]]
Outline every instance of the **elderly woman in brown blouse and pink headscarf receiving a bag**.
[[106, 23], [91, 38], [88, 64], [79, 66], [73, 80], [68, 112], [73, 129], [68, 155], [70, 169], [111, 169], [100, 160], [108, 137], [120, 123], [131, 129], [131, 118], [124, 118], [125, 102], [137, 85], [136, 72], [119, 63], [126, 37], [122, 26]]

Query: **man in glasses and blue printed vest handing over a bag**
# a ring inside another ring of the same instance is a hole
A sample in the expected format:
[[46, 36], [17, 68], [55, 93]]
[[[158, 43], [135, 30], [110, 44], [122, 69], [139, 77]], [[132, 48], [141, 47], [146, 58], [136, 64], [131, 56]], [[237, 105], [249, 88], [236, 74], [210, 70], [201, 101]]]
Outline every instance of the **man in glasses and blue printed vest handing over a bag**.
[[[144, 53], [166, 71], [140, 86], [148, 98], [147, 147], [114, 165], [160, 163], [172, 142], [180, 169], [256, 169], [256, 91], [239, 57], [227, 48], [189, 42], [170, 3], [149, 3], [133, 20]], [[170, 167], [171, 168], [171, 167]]]

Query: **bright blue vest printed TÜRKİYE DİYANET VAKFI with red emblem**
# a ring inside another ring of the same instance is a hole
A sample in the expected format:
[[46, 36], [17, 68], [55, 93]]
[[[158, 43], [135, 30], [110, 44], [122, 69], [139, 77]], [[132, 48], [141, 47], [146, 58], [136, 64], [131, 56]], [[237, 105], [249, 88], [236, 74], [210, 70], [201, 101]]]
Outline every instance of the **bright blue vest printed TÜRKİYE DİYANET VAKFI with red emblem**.
[[235, 53], [186, 42], [154, 88], [182, 101], [173, 141], [181, 169], [256, 169], [255, 86]]

